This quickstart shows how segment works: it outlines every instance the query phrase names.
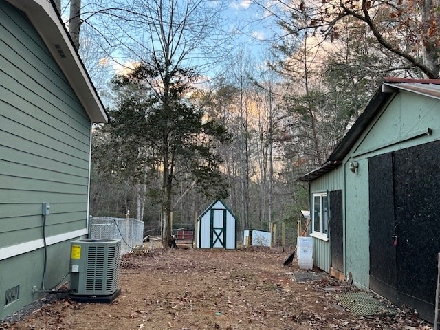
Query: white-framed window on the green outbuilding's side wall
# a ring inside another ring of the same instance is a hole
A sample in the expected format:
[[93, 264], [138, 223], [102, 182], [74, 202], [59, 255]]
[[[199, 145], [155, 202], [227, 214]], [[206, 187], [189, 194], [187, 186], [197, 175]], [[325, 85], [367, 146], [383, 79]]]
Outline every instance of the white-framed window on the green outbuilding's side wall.
[[312, 235], [328, 239], [329, 234], [329, 197], [327, 193], [313, 194], [312, 200]]

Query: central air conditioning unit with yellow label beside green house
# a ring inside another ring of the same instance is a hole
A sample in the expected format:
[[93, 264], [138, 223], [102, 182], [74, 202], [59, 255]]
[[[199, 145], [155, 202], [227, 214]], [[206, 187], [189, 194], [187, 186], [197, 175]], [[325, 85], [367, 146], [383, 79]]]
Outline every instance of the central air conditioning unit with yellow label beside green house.
[[73, 296], [117, 296], [120, 292], [120, 239], [71, 242], [70, 289]]

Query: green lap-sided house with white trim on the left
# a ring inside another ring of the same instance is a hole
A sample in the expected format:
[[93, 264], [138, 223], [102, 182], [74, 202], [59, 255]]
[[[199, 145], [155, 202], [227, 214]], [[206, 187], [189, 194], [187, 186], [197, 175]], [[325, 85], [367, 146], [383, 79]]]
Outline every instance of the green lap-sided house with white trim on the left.
[[0, 318], [67, 281], [107, 122], [53, 2], [0, 0]]

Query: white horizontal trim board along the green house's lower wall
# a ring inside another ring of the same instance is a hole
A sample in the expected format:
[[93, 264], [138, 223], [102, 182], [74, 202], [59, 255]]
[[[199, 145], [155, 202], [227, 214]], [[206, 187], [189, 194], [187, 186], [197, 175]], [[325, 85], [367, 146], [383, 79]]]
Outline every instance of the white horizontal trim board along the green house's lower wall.
[[[49, 236], [46, 238], [46, 244], [54, 245], [63, 241], [69, 241], [69, 239], [75, 239], [76, 237], [87, 235], [87, 228], [75, 230], [74, 232], [65, 232], [63, 234], [58, 234], [55, 236]], [[0, 260], [11, 258], [12, 256], [18, 256], [19, 254], [24, 254], [26, 252], [31, 252], [44, 247], [43, 239], [36, 239], [34, 241], [29, 241], [25, 243], [20, 243], [16, 245], [10, 245], [6, 248], [0, 248]]]

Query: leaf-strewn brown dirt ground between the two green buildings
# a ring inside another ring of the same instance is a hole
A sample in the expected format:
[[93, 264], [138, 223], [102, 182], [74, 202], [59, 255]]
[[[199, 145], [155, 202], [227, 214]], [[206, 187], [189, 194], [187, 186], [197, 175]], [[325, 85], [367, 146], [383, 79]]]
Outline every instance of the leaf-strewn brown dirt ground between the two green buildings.
[[[0, 330], [17, 329], [432, 329], [410, 311], [357, 316], [327, 291], [355, 291], [326, 274], [296, 282], [296, 259], [268, 248], [155, 249], [122, 258], [121, 289], [110, 304], [55, 300]], [[310, 273], [311, 271], [309, 271]]]

